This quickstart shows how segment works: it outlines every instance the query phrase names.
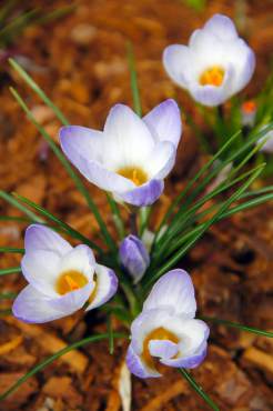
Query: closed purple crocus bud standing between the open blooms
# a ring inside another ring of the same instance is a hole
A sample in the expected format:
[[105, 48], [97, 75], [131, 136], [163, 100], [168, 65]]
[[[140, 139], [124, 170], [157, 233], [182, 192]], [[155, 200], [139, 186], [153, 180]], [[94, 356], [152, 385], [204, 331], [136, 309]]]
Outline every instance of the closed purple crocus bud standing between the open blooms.
[[143, 242], [135, 235], [128, 235], [120, 244], [120, 260], [124, 269], [139, 282], [150, 264], [150, 257]]

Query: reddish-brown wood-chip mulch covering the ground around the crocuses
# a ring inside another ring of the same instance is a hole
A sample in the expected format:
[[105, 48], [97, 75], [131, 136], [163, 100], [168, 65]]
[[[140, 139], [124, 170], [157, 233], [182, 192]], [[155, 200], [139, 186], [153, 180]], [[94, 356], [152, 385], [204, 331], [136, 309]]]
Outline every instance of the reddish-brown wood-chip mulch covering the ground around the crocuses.
[[[67, 1], [30, 1], [44, 10]], [[53, 4], [53, 6], [52, 6]], [[242, 18], [244, 6], [246, 18]], [[186, 42], [192, 30], [215, 12], [237, 17], [242, 36], [253, 47], [257, 68], [244, 94], [254, 97], [270, 71], [271, 1], [208, 1], [202, 13], [179, 0], [79, 0], [73, 13], [47, 26], [28, 28], [17, 40], [18, 53], [30, 74], [65, 113], [71, 123], [101, 128], [117, 102], [132, 104], [125, 41], [135, 49], [143, 112], [173, 97], [201, 122], [185, 92], [166, 77], [162, 50]], [[16, 191], [42, 204], [83, 234], [97, 238], [98, 227], [73, 182], [50, 152], [34, 127], [12, 99], [8, 86], [18, 88], [36, 118], [58, 141], [60, 123], [30, 91], [8, 63], [0, 72], [0, 188]], [[183, 110], [183, 109], [182, 109]], [[204, 161], [189, 126], [184, 126], [175, 170], [156, 204], [162, 214], [171, 197], [181, 190]], [[259, 182], [259, 184], [262, 182]], [[112, 232], [105, 197], [87, 186]], [[1, 215], [20, 215], [0, 203]], [[0, 221], [0, 247], [22, 247], [26, 224]], [[1, 268], [16, 267], [20, 257], [1, 254]], [[214, 225], [194, 247], [181, 267], [196, 285], [200, 313], [272, 330], [273, 208], [264, 204]], [[24, 285], [19, 274], [0, 279], [2, 292]], [[0, 301], [0, 309], [10, 301]], [[117, 330], [120, 324], [115, 323]], [[46, 325], [23, 324], [11, 315], [0, 319], [0, 392], [47, 355], [84, 335], [105, 331], [101, 312], [85, 319], [77, 313]], [[97, 342], [59, 359], [29, 379], [0, 403], [0, 410], [118, 411], [120, 370], [127, 343]], [[208, 359], [193, 372], [196, 381], [223, 411], [270, 411], [273, 407], [273, 343], [264, 337], [223, 325], [211, 327]], [[209, 410], [175, 370], [162, 379], [132, 379], [132, 410]]]

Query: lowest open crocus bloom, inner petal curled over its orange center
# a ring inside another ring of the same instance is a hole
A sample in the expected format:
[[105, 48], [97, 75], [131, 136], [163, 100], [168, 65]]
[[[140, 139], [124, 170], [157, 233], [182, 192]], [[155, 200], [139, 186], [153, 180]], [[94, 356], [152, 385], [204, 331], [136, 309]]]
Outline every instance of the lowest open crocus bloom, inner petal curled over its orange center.
[[209, 328], [194, 319], [196, 302], [190, 275], [172, 270], [153, 287], [131, 327], [127, 354], [130, 371], [140, 378], [161, 377], [156, 362], [195, 368], [205, 358]]

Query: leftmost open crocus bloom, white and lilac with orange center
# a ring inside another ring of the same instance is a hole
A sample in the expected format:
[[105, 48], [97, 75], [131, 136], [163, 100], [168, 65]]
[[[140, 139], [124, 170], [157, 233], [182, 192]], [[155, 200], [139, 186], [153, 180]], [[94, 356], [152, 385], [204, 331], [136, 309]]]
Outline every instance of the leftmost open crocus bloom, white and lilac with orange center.
[[24, 238], [22, 273], [29, 285], [17, 297], [14, 317], [42, 323], [87, 311], [107, 302], [117, 291], [112, 270], [95, 263], [87, 245], [72, 248], [51, 229], [32, 224]]

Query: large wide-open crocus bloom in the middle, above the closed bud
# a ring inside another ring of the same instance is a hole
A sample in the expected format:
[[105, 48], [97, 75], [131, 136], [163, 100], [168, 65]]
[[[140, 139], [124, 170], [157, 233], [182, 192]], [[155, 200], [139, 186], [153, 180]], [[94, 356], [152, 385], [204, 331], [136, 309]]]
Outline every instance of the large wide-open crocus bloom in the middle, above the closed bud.
[[80, 126], [60, 130], [62, 150], [80, 172], [118, 201], [136, 207], [152, 204], [162, 193], [180, 137], [174, 100], [159, 104], [143, 119], [117, 104], [103, 131]]

